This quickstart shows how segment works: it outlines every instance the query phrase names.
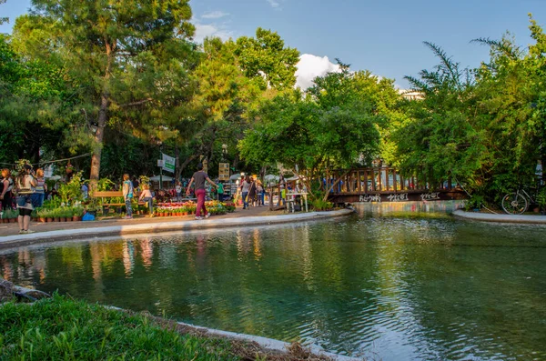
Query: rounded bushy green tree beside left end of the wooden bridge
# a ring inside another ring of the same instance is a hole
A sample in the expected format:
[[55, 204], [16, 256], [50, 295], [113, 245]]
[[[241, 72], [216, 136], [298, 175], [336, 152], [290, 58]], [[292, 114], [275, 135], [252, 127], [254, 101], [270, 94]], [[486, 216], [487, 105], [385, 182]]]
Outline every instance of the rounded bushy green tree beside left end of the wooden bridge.
[[384, 119], [369, 100], [352, 96], [353, 77], [346, 67], [316, 79], [306, 97], [294, 91], [266, 102], [258, 110], [258, 124], [239, 143], [241, 155], [249, 161], [281, 163], [326, 200], [329, 189], [313, 181], [331, 169], [368, 163], [379, 152]]

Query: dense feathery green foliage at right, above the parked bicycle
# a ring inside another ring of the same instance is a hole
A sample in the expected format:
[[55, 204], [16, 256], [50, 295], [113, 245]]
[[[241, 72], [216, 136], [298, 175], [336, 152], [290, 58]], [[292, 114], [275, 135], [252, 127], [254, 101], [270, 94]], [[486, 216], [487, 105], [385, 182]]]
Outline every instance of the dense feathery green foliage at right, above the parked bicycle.
[[440, 65], [408, 77], [424, 99], [405, 105], [410, 121], [395, 134], [403, 171], [452, 176], [486, 201], [533, 182], [546, 160], [546, 37], [532, 18], [530, 29], [536, 44], [528, 51], [508, 35], [477, 39], [490, 46], [490, 62], [475, 70], [426, 43]]

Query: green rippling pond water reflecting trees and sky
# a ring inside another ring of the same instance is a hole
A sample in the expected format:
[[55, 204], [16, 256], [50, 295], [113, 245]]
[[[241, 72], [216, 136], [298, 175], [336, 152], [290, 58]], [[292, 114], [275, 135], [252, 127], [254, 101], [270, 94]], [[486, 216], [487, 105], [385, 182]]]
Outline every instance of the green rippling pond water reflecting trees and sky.
[[423, 207], [8, 249], [0, 274], [373, 360], [546, 360], [546, 227]]

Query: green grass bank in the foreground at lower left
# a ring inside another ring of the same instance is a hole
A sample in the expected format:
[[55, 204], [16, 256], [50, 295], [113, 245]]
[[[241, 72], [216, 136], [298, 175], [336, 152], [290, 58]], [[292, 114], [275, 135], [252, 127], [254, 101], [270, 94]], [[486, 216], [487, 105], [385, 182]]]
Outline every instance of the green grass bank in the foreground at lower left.
[[258, 345], [194, 334], [157, 317], [55, 295], [0, 305], [1, 360], [325, 360], [293, 346], [268, 354]]

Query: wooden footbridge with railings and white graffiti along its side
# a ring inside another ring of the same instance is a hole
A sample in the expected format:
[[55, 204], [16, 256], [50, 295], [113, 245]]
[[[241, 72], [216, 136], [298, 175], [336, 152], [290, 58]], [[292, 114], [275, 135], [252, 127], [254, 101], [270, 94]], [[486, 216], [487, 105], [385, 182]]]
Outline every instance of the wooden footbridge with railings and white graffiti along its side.
[[399, 174], [393, 167], [359, 168], [334, 171], [323, 178], [328, 188], [341, 176], [330, 192], [334, 203], [406, 202], [464, 199], [460, 185], [450, 178], [435, 180], [424, 172]]

